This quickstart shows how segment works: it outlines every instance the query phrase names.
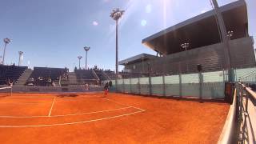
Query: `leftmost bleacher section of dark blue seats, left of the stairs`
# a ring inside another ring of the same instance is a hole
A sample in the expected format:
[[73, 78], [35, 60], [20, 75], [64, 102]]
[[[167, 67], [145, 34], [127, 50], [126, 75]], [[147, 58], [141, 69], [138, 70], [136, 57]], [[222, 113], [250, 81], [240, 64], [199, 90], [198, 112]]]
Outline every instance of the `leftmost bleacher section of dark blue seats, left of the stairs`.
[[15, 82], [27, 69], [27, 66], [4, 66], [0, 65], [0, 85], [5, 85], [10, 82]]

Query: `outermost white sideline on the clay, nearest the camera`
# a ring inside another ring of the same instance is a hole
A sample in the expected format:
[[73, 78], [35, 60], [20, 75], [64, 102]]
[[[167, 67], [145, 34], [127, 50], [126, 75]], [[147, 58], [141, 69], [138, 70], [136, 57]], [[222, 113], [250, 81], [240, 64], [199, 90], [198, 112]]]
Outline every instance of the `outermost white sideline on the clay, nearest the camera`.
[[128, 113], [128, 114], [121, 114], [121, 115], [116, 115], [112, 117], [106, 117], [106, 118], [98, 118], [98, 119], [92, 119], [92, 120], [87, 120], [87, 121], [81, 121], [81, 122], [67, 122], [67, 123], [57, 123], [57, 124], [46, 124], [46, 125], [24, 125], [24, 126], [0, 126], [0, 128], [24, 128], [24, 127], [42, 127], [42, 126], [65, 126], [65, 125], [74, 125], [74, 124], [79, 124], [79, 123], [87, 123], [87, 122], [97, 122], [97, 121], [102, 121], [106, 119], [111, 119], [111, 118], [120, 118], [123, 116], [131, 115], [131, 114], [138, 114], [142, 113], [145, 110], [139, 110], [133, 113]]

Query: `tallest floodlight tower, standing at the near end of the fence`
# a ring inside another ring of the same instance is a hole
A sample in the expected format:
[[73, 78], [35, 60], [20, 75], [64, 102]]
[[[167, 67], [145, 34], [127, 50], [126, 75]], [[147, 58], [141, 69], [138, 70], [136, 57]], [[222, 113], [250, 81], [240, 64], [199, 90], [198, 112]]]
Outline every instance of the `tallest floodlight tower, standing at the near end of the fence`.
[[122, 14], [125, 12], [125, 10], [119, 10], [115, 9], [110, 14], [110, 17], [113, 18], [116, 22], [116, 40], [115, 40], [115, 46], [116, 46], [116, 52], [115, 52], [115, 71], [116, 71], [116, 78], [118, 78], [118, 20], [122, 17]]

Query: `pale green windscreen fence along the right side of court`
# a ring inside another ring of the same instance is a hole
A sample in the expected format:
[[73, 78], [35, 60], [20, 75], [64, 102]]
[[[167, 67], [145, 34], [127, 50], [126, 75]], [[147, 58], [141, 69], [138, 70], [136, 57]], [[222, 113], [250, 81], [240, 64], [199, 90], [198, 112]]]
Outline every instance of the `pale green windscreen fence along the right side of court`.
[[[256, 71], [256, 68], [234, 70], [234, 79]], [[201, 75], [201, 77], [200, 77]], [[200, 78], [202, 86], [200, 86]], [[158, 96], [192, 96], [203, 98], [224, 98], [225, 82], [228, 78], [224, 70], [205, 72], [202, 74], [163, 75], [150, 78], [118, 79], [117, 90], [130, 94], [151, 94]], [[112, 80], [115, 86], [115, 80]]]

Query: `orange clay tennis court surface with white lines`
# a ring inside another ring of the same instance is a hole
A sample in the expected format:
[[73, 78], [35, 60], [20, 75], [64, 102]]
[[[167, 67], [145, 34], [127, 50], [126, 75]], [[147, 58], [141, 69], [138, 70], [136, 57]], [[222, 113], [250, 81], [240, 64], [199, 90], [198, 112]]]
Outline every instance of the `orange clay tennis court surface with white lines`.
[[0, 94], [0, 143], [216, 143], [229, 105], [130, 94]]

